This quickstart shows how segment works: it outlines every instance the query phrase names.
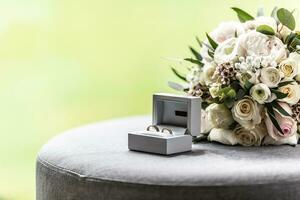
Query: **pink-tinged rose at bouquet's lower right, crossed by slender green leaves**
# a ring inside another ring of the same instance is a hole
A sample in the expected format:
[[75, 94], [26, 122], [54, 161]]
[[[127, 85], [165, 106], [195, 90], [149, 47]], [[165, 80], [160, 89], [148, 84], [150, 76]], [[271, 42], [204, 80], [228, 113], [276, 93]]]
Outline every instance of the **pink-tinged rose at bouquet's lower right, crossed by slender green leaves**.
[[[292, 110], [288, 104], [281, 102], [279, 105], [290, 115], [292, 114]], [[274, 109], [274, 113], [274, 117], [276, 118], [283, 134], [277, 130], [277, 128], [273, 125], [270, 116], [266, 113], [265, 124], [270, 137], [276, 141], [280, 141], [297, 134], [297, 122], [292, 117], [285, 116], [276, 109]]]

